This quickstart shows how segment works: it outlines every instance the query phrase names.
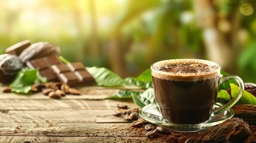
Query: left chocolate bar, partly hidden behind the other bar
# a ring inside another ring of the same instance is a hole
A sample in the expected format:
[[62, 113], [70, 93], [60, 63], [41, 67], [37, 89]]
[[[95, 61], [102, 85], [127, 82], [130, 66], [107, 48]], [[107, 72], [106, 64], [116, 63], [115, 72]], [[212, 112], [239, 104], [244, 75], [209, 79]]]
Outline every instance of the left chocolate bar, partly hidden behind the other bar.
[[27, 61], [27, 66], [31, 69], [38, 69], [42, 77], [47, 77], [47, 82], [58, 82], [57, 76], [54, 74], [51, 66], [54, 64], [62, 64], [57, 55], [50, 55], [43, 58]]

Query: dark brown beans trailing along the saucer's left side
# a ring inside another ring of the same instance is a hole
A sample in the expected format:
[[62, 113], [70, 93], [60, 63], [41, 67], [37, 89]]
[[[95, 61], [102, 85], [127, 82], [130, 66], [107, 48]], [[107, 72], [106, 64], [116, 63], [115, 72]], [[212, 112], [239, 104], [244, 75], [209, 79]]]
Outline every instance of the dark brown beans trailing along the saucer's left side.
[[148, 138], [155, 138], [158, 136], [158, 133], [169, 135], [171, 132], [168, 128], [164, 126], [159, 126], [147, 122], [146, 120], [142, 119], [138, 112], [140, 111], [138, 108], [128, 108], [127, 105], [118, 104], [118, 110], [113, 112], [113, 116], [122, 116], [126, 114], [127, 116], [124, 117], [124, 120], [127, 121], [134, 121], [131, 123], [133, 128], [144, 128], [147, 130], [146, 136]]

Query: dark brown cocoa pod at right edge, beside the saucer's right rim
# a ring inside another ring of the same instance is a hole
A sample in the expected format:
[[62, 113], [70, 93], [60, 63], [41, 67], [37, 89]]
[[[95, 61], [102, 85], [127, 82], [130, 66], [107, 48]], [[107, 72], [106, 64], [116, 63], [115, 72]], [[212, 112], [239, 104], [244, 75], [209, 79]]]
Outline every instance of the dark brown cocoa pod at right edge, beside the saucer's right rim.
[[232, 109], [235, 111], [234, 117], [245, 120], [249, 125], [256, 125], [256, 105], [234, 105]]

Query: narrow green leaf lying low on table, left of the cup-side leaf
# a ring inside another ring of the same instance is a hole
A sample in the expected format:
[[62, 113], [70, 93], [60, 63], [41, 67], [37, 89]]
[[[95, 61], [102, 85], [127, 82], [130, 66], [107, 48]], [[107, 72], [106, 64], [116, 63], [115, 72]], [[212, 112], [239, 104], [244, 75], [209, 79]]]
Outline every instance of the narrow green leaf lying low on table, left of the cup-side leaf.
[[119, 91], [115, 95], [110, 95], [110, 96], [106, 97], [105, 99], [110, 99], [110, 100], [125, 99], [125, 100], [127, 100], [127, 99], [132, 99], [132, 96], [134, 96], [134, 95], [140, 95], [140, 94], [142, 94], [142, 92], [125, 90], [125, 91]]

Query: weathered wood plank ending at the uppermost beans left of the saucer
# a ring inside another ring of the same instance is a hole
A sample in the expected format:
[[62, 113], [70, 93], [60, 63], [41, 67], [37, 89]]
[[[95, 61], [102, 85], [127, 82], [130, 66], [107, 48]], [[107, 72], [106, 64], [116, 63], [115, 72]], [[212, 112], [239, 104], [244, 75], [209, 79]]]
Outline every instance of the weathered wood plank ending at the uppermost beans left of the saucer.
[[117, 104], [135, 107], [132, 101], [115, 100], [0, 100], [0, 110], [116, 110]]

